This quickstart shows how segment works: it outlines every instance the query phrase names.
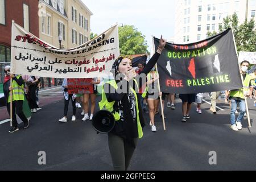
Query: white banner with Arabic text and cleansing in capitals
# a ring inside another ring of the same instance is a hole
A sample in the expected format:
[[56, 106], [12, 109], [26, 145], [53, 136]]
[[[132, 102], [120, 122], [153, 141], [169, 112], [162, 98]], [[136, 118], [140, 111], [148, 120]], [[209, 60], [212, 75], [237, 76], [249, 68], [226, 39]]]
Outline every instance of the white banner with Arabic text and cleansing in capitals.
[[59, 49], [12, 24], [11, 72], [55, 78], [92, 78], [110, 75], [119, 56], [118, 26], [71, 49]]

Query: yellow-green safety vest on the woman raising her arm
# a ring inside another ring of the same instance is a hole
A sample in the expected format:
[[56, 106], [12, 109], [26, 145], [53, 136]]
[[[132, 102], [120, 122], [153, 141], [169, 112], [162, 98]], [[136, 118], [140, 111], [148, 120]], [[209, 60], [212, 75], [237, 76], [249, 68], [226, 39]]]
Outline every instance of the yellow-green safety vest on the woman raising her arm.
[[[135, 84], [137, 85], [137, 87], [139, 88], [137, 81], [135, 79], [133, 79], [133, 80], [134, 80]], [[113, 86], [113, 88], [115, 90], [118, 88], [117, 83], [115, 82], [115, 80], [108, 81], [108, 82], [106, 82], [106, 84], [110, 84], [111, 86]], [[138, 135], [139, 135], [139, 138], [142, 138], [143, 137], [143, 131], [142, 131], [142, 127], [141, 127], [141, 122], [139, 121], [138, 97], [137, 97], [137, 94], [136, 94], [135, 90], [131, 87], [130, 87], [130, 89], [134, 93], [134, 96], [135, 96], [135, 99], [136, 99]], [[117, 111], [114, 111], [114, 107], [113, 107], [114, 103], [115, 103], [115, 101], [112, 101], [112, 102], [108, 101], [108, 99], [106, 98], [104, 85], [102, 85], [101, 101], [98, 103], [98, 105], [99, 105], [100, 109], [104, 109], [104, 107], [105, 107], [106, 110], [110, 111], [114, 115], [115, 121], [119, 121], [120, 114]]]

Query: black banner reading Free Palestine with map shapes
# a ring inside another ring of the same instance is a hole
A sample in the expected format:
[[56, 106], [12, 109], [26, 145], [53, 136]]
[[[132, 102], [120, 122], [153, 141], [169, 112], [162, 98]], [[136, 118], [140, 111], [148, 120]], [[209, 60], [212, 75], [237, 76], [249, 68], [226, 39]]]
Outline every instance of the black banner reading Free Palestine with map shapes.
[[[159, 39], [154, 38], [155, 49]], [[166, 93], [201, 93], [242, 88], [232, 30], [190, 44], [167, 43], [158, 60]]]

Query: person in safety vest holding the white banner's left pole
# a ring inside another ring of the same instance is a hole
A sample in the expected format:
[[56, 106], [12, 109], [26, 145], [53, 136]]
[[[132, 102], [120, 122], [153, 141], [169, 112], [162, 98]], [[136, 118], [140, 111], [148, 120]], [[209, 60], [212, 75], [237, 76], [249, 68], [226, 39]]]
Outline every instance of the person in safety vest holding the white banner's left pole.
[[[23, 101], [24, 101], [24, 84], [21, 75], [14, 76], [10, 74], [10, 66], [5, 67], [5, 80], [3, 83], [3, 93], [5, 94], [7, 111], [10, 115], [10, 92], [13, 92], [13, 126], [9, 130], [9, 133], [14, 133], [18, 131], [18, 122], [16, 119], [16, 114], [24, 123], [24, 129], [28, 128], [29, 121], [23, 113]], [[11, 78], [13, 81], [11, 82]], [[16, 113], [16, 114], [15, 114]]]

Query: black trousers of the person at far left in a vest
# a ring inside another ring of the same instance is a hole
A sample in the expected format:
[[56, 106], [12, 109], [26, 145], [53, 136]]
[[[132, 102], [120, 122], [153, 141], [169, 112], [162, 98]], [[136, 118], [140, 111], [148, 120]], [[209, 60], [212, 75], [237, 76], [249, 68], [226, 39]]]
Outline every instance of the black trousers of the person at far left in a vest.
[[[16, 114], [19, 116], [19, 118], [22, 120], [23, 123], [27, 123], [27, 117], [24, 115], [22, 109], [23, 109], [23, 101], [13, 101], [13, 126], [14, 127], [18, 126]], [[11, 116], [10, 102], [7, 104], [7, 111]]]

